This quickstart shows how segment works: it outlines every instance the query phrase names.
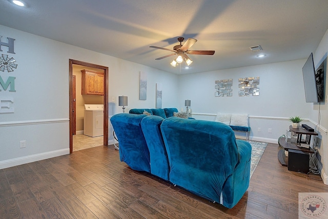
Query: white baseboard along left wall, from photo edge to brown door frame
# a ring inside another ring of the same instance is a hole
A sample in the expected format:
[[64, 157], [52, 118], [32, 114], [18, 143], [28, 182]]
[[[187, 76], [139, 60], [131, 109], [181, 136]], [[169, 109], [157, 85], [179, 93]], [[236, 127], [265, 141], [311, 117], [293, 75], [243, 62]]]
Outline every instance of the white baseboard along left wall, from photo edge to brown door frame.
[[35, 162], [35, 161], [41, 161], [41, 160], [45, 160], [45, 159], [48, 159], [51, 157], [61, 156], [61, 155], [69, 154], [69, 153], [70, 153], [70, 149], [67, 148], [67, 149], [60, 149], [60, 150], [56, 150], [56, 151], [49, 151], [49, 152], [45, 152], [45, 153], [33, 154], [33, 155], [29, 155], [29, 156], [18, 157], [18, 158], [6, 160], [6, 161], [1, 161], [0, 169], [14, 167], [17, 165], [27, 164], [27, 163], [31, 163], [31, 162]]

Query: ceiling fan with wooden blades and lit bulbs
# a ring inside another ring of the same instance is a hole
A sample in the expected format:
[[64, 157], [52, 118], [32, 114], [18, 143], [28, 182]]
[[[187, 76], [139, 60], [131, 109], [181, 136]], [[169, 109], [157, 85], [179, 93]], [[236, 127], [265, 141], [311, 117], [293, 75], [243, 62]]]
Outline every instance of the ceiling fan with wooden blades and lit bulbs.
[[185, 61], [187, 63], [187, 65], [189, 66], [193, 61], [188, 57], [187, 54], [192, 54], [192, 55], [213, 55], [215, 53], [214, 50], [189, 50], [190, 47], [192, 47], [192, 45], [194, 45], [197, 42], [197, 39], [194, 38], [188, 38], [185, 44], [181, 44], [183, 42], [183, 37], [178, 37], [178, 41], [180, 42], [180, 45], [175, 45], [172, 49], [167, 49], [167, 48], [163, 48], [163, 47], [158, 47], [158, 46], [150, 46], [150, 48], [154, 48], [154, 49], [163, 49], [163, 50], [168, 50], [168, 51], [172, 51], [174, 53], [169, 54], [169, 55], [165, 55], [159, 58], [155, 58], [156, 60], [160, 60], [172, 55], [178, 55], [177, 58], [175, 58], [173, 60], [173, 62], [171, 63], [171, 65], [173, 67], [175, 67], [178, 63], [182, 63], [183, 61]]

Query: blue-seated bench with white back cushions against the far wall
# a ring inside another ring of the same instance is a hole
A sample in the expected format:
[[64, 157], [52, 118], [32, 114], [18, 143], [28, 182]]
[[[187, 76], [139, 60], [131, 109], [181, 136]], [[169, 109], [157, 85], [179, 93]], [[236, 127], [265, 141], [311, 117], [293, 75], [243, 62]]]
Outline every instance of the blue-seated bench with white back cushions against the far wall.
[[217, 113], [215, 122], [224, 123], [234, 131], [246, 132], [246, 139], [250, 139], [251, 127], [248, 125], [248, 114]]

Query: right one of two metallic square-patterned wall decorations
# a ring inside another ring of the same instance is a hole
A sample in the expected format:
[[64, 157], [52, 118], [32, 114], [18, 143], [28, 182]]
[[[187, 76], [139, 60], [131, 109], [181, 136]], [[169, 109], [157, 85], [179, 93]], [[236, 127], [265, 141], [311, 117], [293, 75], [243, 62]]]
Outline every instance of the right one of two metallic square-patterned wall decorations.
[[239, 96], [259, 96], [260, 77], [244, 77], [238, 79]]

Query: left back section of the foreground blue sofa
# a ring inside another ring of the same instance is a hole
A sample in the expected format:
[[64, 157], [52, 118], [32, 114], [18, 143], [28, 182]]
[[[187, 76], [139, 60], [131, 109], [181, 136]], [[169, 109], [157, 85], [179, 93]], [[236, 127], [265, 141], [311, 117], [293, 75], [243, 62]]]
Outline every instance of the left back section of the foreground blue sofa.
[[140, 125], [146, 116], [119, 113], [111, 117], [111, 124], [119, 144], [120, 161], [133, 170], [150, 172], [149, 150]]

